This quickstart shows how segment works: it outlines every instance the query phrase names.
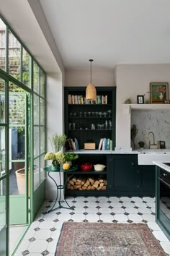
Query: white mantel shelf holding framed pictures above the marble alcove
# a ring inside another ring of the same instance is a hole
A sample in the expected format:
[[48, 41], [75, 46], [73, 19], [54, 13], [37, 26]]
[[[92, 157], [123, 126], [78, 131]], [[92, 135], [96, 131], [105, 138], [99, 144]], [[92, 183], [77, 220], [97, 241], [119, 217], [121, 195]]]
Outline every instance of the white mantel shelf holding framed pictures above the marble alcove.
[[122, 106], [132, 110], [170, 110], [170, 104], [122, 104]]

